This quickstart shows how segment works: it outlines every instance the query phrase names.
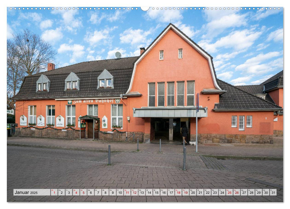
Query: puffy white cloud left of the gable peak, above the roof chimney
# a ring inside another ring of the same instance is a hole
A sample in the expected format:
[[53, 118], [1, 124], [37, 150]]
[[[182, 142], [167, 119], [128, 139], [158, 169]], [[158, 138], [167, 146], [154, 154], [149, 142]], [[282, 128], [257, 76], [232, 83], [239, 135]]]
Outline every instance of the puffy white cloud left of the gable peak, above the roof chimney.
[[140, 43], [148, 44], [149, 41], [146, 38], [149, 34], [151, 34], [151, 30], [143, 31], [141, 29], [134, 30], [129, 28], [120, 34], [120, 40], [121, 43], [130, 43], [131, 45]]

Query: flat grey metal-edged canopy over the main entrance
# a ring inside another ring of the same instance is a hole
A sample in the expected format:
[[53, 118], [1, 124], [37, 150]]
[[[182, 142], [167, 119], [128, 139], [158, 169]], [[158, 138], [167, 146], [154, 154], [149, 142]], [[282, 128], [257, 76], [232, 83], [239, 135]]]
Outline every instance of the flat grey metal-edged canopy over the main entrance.
[[207, 117], [208, 108], [199, 107], [198, 113], [196, 107], [142, 107], [133, 108], [133, 116], [144, 118], [189, 118], [189, 117]]

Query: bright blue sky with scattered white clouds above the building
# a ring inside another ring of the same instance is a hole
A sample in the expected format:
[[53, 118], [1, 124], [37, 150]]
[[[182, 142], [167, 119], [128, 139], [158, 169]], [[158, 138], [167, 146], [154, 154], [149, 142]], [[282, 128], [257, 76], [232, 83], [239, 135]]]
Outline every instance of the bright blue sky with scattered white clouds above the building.
[[18, 8], [7, 7], [7, 39], [26, 28], [33, 31], [57, 51], [56, 68], [113, 59], [116, 51], [139, 56], [139, 48], [148, 47], [171, 22], [213, 56], [219, 79], [260, 84], [283, 70], [283, 7]]

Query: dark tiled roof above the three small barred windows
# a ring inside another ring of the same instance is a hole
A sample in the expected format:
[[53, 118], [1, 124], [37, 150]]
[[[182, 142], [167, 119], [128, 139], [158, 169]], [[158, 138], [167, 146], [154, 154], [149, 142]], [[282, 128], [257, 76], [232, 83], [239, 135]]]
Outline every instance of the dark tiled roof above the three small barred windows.
[[278, 105], [272, 104], [260, 97], [254, 96], [244, 90], [217, 79], [218, 84], [227, 92], [220, 96], [220, 103], [216, 104], [218, 109], [277, 109]]

